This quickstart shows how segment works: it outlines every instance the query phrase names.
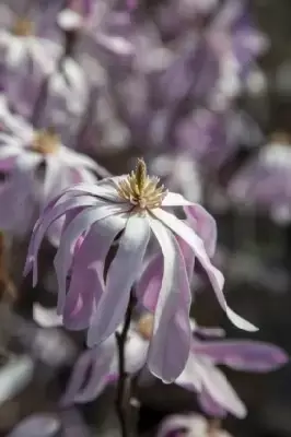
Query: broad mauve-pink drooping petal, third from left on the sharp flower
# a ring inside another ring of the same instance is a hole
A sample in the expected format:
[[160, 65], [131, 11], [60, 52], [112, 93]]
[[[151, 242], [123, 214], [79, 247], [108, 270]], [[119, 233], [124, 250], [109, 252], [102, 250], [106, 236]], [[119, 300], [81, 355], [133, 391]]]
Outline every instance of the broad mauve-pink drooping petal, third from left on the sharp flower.
[[[119, 218], [119, 217], [118, 217]], [[104, 264], [116, 235], [125, 227], [125, 220], [106, 217], [103, 232], [92, 225], [73, 261], [69, 293], [66, 297], [63, 323], [68, 329], [85, 329], [104, 292]], [[106, 234], [105, 227], [108, 233]]]

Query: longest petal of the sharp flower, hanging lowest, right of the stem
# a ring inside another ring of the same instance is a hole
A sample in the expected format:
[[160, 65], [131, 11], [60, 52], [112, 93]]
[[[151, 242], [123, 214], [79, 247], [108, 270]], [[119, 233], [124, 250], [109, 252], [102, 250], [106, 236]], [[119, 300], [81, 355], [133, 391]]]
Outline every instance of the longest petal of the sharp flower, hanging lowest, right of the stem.
[[175, 236], [160, 221], [150, 218], [163, 253], [162, 287], [154, 314], [148, 365], [164, 382], [173, 382], [188, 359], [191, 327], [191, 295], [183, 255]]

